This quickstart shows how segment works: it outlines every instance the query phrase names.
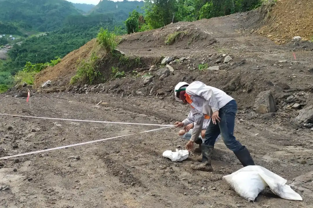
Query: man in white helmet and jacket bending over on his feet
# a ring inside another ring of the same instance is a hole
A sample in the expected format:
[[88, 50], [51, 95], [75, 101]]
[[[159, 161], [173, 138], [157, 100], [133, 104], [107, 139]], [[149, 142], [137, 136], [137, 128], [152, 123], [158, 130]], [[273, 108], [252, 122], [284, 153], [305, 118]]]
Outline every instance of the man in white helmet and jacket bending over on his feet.
[[192, 141], [195, 141], [202, 130], [203, 118], [211, 116], [212, 119], [205, 133], [204, 144], [201, 146], [202, 163], [192, 165], [193, 170], [213, 171], [211, 161], [215, 140], [219, 134], [222, 135], [227, 148], [234, 152], [244, 167], [254, 165], [249, 150], [233, 135], [237, 103], [232, 97], [220, 89], [194, 81], [190, 85], [186, 82], [178, 83], [175, 87], [175, 99], [190, 104], [193, 112], [201, 114], [195, 119], [192, 136], [186, 144], [188, 151], [193, 149]]

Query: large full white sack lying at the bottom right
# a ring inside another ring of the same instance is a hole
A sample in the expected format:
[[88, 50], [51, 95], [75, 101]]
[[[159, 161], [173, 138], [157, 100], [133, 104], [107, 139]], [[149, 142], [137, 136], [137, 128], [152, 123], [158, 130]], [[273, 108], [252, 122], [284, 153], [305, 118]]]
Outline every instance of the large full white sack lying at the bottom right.
[[267, 186], [283, 199], [302, 201], [302, 197], [286, 185], [287, 180], [261, 166], [243, 167], [223, 178], [239, 196], [249, 201], [254, 201]]

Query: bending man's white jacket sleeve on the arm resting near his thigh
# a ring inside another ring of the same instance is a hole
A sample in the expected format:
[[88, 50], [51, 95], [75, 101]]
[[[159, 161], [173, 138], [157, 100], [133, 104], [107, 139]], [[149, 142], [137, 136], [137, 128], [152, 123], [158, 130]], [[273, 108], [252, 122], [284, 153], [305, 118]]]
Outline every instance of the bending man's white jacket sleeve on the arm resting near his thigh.
[[208, 105], [211, 106], [213, 113], [219, 110], [218, 101], [210, 86], [207, 86], [202, 82], [195, 82], [186, 88], [186, 93], [193, 96], [203, 97], [208, 101]]

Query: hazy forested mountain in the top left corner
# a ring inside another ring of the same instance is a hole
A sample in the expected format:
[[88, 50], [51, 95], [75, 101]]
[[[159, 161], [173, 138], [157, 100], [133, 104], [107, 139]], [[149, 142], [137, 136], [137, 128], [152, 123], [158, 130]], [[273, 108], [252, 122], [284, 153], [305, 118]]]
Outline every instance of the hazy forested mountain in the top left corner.
[[[37, 31], [54, 31], [64, 19], [80, 12], [64, 0], [0, 0], [0, 21], [28, 25]], [[0, 31], [1, 32], [1, 31]]]

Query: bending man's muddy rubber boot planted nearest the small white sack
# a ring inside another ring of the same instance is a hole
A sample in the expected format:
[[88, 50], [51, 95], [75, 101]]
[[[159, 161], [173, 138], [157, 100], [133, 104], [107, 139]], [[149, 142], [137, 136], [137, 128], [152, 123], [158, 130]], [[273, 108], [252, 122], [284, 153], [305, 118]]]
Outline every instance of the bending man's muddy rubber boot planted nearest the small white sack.
[[214, 147], [209, 147], [205, 144], [201, 145], [202, 148], [202, 162], [199, 165], [192, 165], [192, 170], [195, 171], [213, 171], [211, 161], [213, 156]]

